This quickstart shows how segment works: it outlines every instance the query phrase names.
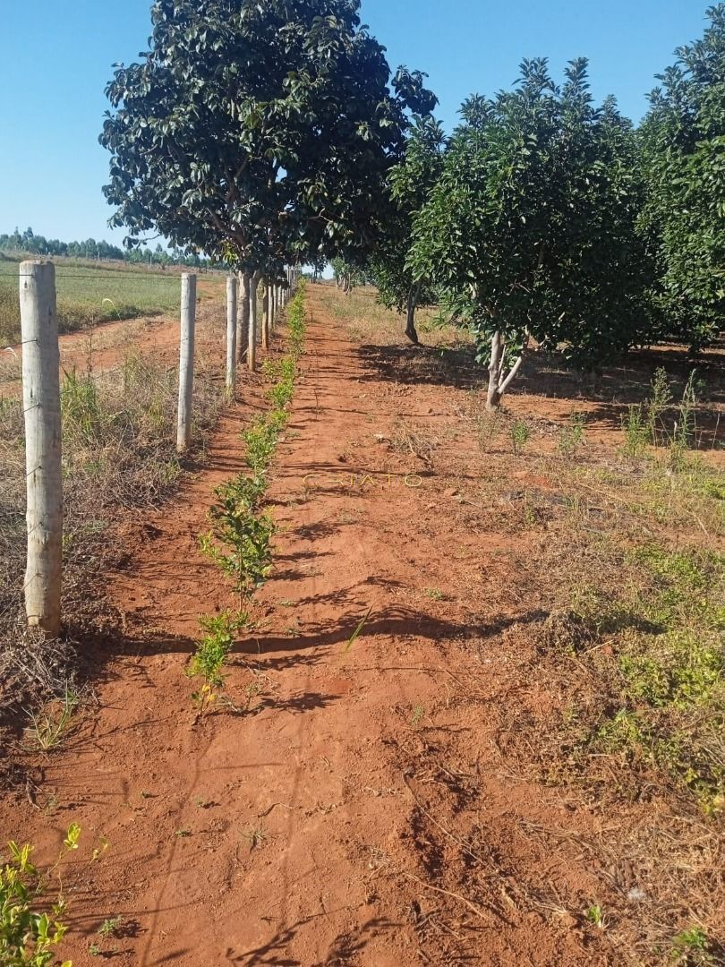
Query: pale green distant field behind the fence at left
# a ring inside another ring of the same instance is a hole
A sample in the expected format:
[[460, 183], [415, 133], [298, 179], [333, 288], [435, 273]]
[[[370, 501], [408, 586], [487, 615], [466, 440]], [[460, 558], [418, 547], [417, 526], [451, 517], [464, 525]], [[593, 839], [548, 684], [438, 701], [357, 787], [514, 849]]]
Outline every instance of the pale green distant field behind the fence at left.
[[[18, 263], [0, 260], [0, 343], [20, 339]], [[174, 312], [179, 308], [176, 272], [120, 269], [117, 266], [56, 262], [58, 321], [62, 333], [139, 315]]]

